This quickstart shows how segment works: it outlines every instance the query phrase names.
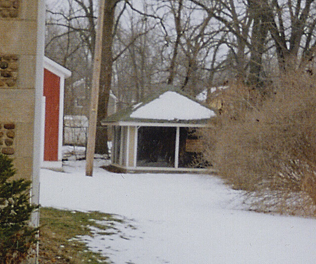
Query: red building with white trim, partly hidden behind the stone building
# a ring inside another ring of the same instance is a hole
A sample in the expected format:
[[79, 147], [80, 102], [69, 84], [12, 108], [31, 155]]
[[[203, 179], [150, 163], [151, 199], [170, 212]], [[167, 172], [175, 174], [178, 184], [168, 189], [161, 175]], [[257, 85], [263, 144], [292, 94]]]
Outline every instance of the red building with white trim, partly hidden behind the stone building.
[[62, 166], [64, 82], [71, 72], [44, 57], [42, 167]]

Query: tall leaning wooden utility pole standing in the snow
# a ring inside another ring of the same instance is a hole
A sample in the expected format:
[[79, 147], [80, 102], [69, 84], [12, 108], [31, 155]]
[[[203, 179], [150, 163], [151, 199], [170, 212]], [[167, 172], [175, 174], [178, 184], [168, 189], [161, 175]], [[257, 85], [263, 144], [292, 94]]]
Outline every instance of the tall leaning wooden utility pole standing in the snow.
[[105, 0], [100, 0], [98, 28], [96, 32], [93, 74], [90, 98], [90, 113], [89, 113], [89, 127], [86, 149], [86, 166], [85, 175], [92, 176], [93, 172], [93, 158], [95, 150], [95, 132], [98, 113], [98, 99], [99, 99], [99, 82], [101, 71], [101, 52], [102, 52], [102, 37], [103, 37], [103, 20], [104, 20], [104, 6]]

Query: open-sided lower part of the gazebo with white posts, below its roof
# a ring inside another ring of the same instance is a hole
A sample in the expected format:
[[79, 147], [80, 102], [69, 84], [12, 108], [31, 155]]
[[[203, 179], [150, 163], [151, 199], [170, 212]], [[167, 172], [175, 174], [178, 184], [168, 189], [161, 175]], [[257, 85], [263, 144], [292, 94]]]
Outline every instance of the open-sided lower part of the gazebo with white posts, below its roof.
[[112, 163], [136, 169], [204, 168], [196, 127], [114, 126]]

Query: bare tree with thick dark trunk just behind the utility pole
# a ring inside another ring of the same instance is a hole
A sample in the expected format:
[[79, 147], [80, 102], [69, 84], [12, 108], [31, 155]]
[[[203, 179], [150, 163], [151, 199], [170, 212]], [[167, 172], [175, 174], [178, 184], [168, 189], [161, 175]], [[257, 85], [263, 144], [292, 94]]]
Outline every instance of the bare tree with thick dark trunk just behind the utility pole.
[[[121, 4], [120, 10], [117, 9], [118, 3]], [[100, 122], [107, 116], [107, 105], [109, 100], [109, 94], [111, 89], [112, 81], [112, 67], [113, 62], [118, 59], [120, 55], [127, 50], [136, 39], [144, 33], [133, 36], [130, 39], [130, 43], [125, 44], [122, 50], [118, 51], [116, 56], [113, 56], [112, 47], [114, 36], [119, 27], [119, 18], [122, 16], [126, 6], [129, 6], [133, 12], [137, 12], [142, 16], [152, 17], [158, 19], [157, 16], [146, 14], [139, 11], [133, 7], [131, 2], [128, 0], [107, 0], [105, 6], [102, 7], [105, 10], [105, 20], [103, 25], [103, 43], [102, 43], [102, 63], [101, 63], [101, 76], [100, 76], [100, 92], [99, 92], [99, 102], [98, 102], [98, 116], [97, 116], [97, 141], [96, 141], [96, 152], [107, 152], [107, 137], [106, 130], [101, 127]], [[85, 51], [89, 62], [92, 61], [94, 55], [94, 45], [95, 45], [95, 32], [96, 32], [96, 17], [94, 15], [95, 9], [94, 1], [92, 0], [68, 0], [68, 9], [59, 11], [48, 10], [52, 19], [47, 21], [47, 26], [62, 28], [56, 36], [50, 38], [47, 42], [47, 50], [52, 50], [54, 44], [63, 43], [64, 36], [71, 36], [73, 38], [78, 38], [81, 40], [80, 48]], [[116, 9], [118, 12], [116, 12]], [[54, 18], [53, 18], [54, 17]], [[146, 30], [145, 30], [146, 31]], [[60, 40], [56, 41], [56, 40]], [[61, 52], [64, 54], [65, 52]], [[57, 55], [57, 54], [56, 54]], [[60, 55], [57, 55], [60, 56]], [[61, 62], [62, 65], [66, 66], [66, 62], [62, 60], [57, 60]], [[80, 63], [78, 63], [80, 65]], [[91, 65], [91, 64], [90, 64]], [[143, 63], [144, 68], [144, 63]], [[90, 72], [90, 69], [88, 70]], [[89, 79], [87, 79], [89, 87]], [[87, 89], [88, 92], [88, 89]], [[86, 98], [89, 98], [86, 96]]]

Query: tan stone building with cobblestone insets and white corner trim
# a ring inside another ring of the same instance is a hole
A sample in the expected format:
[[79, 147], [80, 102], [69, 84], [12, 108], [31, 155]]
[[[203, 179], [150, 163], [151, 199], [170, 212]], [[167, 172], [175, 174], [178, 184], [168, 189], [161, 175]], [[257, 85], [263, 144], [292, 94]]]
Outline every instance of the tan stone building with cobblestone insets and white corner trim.
[[[39, 202], [44, 0], [0, 0], [0, 152]], [[37, 225], [38, 214], [32, 223]]]

